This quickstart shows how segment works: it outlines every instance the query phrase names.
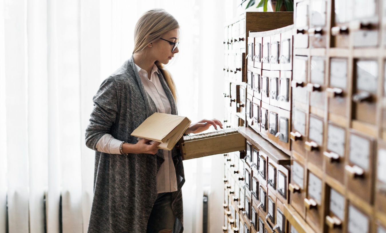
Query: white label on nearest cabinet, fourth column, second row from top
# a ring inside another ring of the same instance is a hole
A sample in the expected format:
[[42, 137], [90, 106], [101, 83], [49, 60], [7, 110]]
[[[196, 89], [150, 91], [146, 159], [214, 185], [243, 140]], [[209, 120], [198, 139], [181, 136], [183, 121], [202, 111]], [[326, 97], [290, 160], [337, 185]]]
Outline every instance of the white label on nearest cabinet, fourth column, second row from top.
[[377, 92], [378, 62], [361, 60], [357, 61], [357, 88], [368, 92]]

